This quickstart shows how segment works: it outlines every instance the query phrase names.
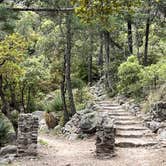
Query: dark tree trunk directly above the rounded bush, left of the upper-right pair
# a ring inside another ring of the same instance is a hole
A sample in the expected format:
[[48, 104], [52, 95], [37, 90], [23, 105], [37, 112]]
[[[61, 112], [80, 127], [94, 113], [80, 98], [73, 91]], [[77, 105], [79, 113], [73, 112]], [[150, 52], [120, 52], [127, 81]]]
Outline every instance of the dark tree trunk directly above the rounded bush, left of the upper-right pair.
[[132, 21], [131, 16], [128, 16], [127, 19], [127, 29], [128, 29], [128, 47], [130, 55], [133, 54], [133, 37], [132, 37]]

